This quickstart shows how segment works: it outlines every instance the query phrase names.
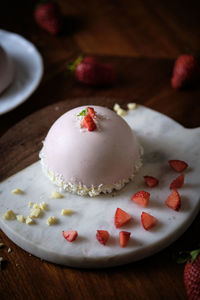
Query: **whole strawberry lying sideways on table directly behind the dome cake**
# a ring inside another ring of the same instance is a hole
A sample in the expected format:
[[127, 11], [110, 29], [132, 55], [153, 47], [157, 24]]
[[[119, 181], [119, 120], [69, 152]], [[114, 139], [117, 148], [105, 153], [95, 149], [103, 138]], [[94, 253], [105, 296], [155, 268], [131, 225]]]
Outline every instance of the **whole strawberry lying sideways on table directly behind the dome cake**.
[[111, 85], [116, 81], [116, 74], [109, 64], [102, 64], [93, 56], [78, 57], [68, 65], [77, 81], [93, 86]]

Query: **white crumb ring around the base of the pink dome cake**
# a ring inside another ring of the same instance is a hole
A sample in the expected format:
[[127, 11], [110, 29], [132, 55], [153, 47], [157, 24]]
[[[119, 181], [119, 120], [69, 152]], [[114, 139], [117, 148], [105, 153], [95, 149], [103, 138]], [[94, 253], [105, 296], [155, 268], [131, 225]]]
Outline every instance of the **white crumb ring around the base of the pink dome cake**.
[[[42, 149], [43, 150], [43, 149]], [[98, 196], [99, 194], [107, 194], [107, 193], [112, 193], [114, 190], [121, 190], [128, 182], [132, 181], [135, 174], [138, 172], [138, 170], [142, 166], [142, 160], [141, 156], [143, 155], [143, 148], [140, 146], [140, 158], [136, 162], [135, 167], [133, 168], [132, 174], [126, 178], [120, 180], [118, 183], [110, 184], [110, 185], [103, 185], [100, 184], [99, 186], [91, 186], [87, 187], [86, 185], [82, 184], [81, 182], [79, 185], [73, 184], [71, 182], [65, 182], [63, 180], [63, 176], [59, 174], [54, 174], [51, 170], [48, 169], [48, 167], [45, 165], [43, 161], [43, 152], [42, 150], [40, 151], [39, 157], [40, 157], [40, 162], [42, 165], [42, 170], [44, 174], [57, 186], [59, 186], [61, 189], [64, 191], [71, 192], [73, 194], [77, 194], [80, 196], [87, 196], [89, 195], [90, 197], [95, 197]]]

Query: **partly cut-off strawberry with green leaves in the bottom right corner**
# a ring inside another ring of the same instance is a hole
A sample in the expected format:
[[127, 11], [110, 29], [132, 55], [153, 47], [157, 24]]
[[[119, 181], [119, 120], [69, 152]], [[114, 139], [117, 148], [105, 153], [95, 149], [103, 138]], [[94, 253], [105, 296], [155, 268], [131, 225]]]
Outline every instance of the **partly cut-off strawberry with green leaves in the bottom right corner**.
[[184, 283], [189, 300], [200, 299], [200, 249], [190, 253], [184, 268]]

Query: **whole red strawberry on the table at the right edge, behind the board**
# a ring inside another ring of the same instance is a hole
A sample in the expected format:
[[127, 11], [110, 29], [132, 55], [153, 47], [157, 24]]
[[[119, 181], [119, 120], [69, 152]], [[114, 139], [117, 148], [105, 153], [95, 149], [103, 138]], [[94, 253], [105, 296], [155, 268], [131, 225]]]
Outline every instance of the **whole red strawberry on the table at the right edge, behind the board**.
[[181, 89], [195, 83], [200, 73], [199, 63], [195, 56], [180, 55], [174, 64], [171, 85], [174, 89]]

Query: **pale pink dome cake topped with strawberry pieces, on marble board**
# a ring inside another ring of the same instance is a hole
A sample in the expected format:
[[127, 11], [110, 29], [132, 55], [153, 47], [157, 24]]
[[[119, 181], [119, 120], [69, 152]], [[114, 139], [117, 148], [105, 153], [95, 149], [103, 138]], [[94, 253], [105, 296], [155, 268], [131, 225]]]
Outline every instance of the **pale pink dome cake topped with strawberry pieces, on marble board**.
[[96, 196], [121, 189], [141, 166], [141, 147], [112, 110], [77, 107], [50, 128], [40, 152], [45, 173], [64, 190]]

